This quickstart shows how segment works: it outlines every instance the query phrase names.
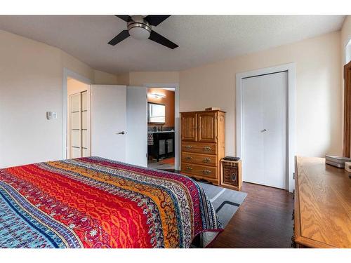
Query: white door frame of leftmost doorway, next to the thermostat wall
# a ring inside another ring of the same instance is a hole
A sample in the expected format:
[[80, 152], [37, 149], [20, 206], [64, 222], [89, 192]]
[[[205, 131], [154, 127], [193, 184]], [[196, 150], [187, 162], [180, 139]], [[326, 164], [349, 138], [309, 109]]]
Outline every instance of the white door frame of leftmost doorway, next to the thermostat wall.
[[72, 78], [88, 85], [93, 84], [91, 79], [73, 72], [66, 67], [63, 68], [62, 77], [62, 159], [67, 159], [67, 79]]

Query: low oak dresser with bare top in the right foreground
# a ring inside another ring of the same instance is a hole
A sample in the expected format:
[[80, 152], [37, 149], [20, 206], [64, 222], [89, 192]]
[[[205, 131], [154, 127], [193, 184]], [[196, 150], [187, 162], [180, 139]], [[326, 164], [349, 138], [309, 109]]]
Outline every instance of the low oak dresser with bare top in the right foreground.
[[296, 157], [294, 241], [298, 248], [351, 248], [351, 179], [324, 158]]

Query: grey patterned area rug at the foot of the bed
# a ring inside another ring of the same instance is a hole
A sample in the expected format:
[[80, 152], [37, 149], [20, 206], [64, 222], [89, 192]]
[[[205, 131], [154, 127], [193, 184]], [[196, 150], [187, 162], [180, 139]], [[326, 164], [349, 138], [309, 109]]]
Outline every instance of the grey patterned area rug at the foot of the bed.
[[[198, 182], [198, 184], [200, 184], [208, 198], [210, 198], [213, 208], [215, 208], [225, 231], [225, 227], [230, 222], [235, 212], [237, 212], [239, 205], [244, 202], [247, 194], [242, 191], [217, 187], [204, 182]], [[216, 232], [205, 232], [202, 237], [202, 246], [206, 247], [209, 245], [213, 239], [216, 238], [217, 234]], [[192, 245], [192, 248], [199, 247], [197, 245]]]

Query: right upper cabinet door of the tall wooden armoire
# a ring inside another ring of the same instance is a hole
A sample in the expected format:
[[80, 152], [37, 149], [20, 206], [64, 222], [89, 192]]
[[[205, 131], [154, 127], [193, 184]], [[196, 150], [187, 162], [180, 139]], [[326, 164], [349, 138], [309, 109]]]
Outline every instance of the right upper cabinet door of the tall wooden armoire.
[[217, 142], [217, 113], [201, 112], [198, 114], [198, 141]]

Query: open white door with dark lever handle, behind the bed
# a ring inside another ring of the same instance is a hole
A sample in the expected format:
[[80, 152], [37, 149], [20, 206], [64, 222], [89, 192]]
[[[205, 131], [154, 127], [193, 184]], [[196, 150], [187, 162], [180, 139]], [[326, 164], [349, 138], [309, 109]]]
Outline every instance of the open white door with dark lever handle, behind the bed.
[[126, 86], [91, 86], [91, 155], [126, 161]]

